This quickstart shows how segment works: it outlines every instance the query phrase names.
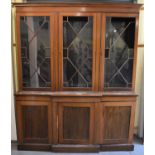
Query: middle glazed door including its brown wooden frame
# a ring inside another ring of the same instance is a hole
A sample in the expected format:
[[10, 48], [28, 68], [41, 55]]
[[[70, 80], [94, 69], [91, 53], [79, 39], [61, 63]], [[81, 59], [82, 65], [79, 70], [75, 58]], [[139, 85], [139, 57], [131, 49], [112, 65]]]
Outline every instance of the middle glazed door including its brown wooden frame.
[[63, 13], [59, 22], [60, 90], [94, 90], [96, 14]]

